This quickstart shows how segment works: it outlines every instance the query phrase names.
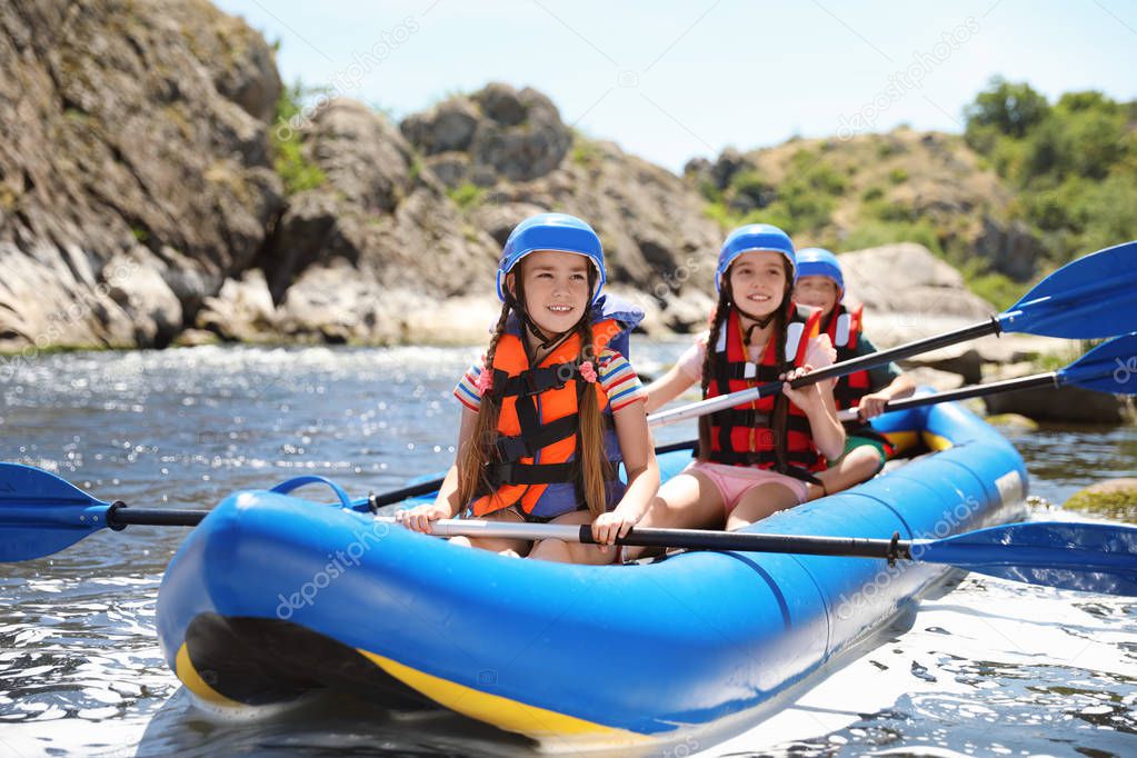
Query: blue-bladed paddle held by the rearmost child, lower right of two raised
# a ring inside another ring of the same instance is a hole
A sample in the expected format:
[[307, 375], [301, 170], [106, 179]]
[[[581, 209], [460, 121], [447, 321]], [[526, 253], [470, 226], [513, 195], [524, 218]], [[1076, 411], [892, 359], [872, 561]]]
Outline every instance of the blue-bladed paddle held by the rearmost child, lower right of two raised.
[[[1137, 332], [1123, 334], [1109, 342], [1103, 342], [1065, 368], [1045, 374], [1032, 374], [1021, 378], [977, 384], [958, 390], [926, 394], [904, 400], [889, 400], [885, 410], [904, 410], [919, 408], [951, 400], [982, 398], [999, 392], [1016, 392], [1039, 386], [1062, 388], [1080, 386], [1096, 392], [1110, 394], [1137, 394]], [[857, 409], [848, 408], [837, 414], [843, 422], [857, 419]]]

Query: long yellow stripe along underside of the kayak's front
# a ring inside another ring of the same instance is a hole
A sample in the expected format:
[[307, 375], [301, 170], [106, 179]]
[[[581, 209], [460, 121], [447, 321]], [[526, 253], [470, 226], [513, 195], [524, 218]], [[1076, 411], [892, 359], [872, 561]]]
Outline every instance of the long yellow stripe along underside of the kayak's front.
[[650, 741], [646, 735], [637, 734], [636, 732], [596, 724], [583, 718], [576, 718], [575, 716], [566, 716], [554, 710], [538, 708], [537, 706], [529, 706], [498, 694], [490, 694], [489, 692], [482, 692], [431, 674], [425, 674], [409, 666], [396, 663], [390, 658], [367, 652], [366, 650], [359, 650], [359, 652], [395, 678], [422, 692], [439, 705], [508, 732], [520, 732], [536, 739], [583, 736], [589, 742], [598, 740], [619, 744], [636, 744]]

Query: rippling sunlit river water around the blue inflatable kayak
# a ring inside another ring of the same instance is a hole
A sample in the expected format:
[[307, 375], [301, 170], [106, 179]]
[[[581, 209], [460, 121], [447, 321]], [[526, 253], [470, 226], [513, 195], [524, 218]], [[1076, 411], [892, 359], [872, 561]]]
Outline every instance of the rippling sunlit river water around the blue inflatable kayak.
[[[658, 372], [682, 344], [637, 344]], [[0, 459], [103, 500], [207, 508], [301, 473], [382, 492], [453, 459], [450, 390], [474, 348], [192, 348], [10, 359]], [[1006, 432], [1032, 518], [1137, 476], [1137, 428]], [[658, 441], [691, 434], [667, 427]], [[185, 531], [102, 531], [0, 568], [0, 755], [524, 755], [447, 714], [332, 702], [218, 724], [161, 659], [155, 603]], [[1137, 600], [970, 575], [880, 647], [728, 742], [670, 756], [1137, 755]]]

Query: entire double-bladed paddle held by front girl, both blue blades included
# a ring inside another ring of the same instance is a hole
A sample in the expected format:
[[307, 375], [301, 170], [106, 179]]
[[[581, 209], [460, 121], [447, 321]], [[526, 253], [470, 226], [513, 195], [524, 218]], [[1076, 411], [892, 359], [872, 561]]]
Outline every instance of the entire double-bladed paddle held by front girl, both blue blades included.
[[[306, 476], [274, 488], [288, 491]], [[340, 497], [341, 505], [355, 505]], [[362, 503], [359, 503], [362, 505]], [[48, 556], [103, 526], [194, 526], [204, 510], [127, 508], [107, 503], [31, 466], [0, 464], [0, 561]], [[383, 517], [392, 522], [390, 517]], [[509, 524], [474, 519], [434, 522], [434, 534], [558, 539], [594, 543], [588, 525]], [[698, 550], [789, 552], [943, 564], [1031, 584], [1137, 595], [1137, 528], [1107, 524], [1035, 523], [980, 530], [943, 540], [753, 534], [700, 530], [633, 528], [620, 544]]]

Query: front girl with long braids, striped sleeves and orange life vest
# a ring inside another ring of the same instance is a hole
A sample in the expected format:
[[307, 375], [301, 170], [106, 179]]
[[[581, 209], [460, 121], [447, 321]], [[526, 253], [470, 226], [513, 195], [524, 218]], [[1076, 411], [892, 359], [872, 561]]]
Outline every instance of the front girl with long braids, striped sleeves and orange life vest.
[[[400, 511], [406, 526], [467, 511], [508, 522], [592, 524], [596, 545], [454, 538], [545, 560], [607, 564], [607, 545], [636, 524], [659, 486], [644, 389], [613, 347], [642, 313], [600, 294], [596, 232], [540, 214], [506, 241], [498, 267], [501, 316], [482, 365], [463, 377], [458, 455], [431, 505]], [[609, 347], [612, 343], [613, 347]], [[626, 488], [617, 478], [621, 463]]]

